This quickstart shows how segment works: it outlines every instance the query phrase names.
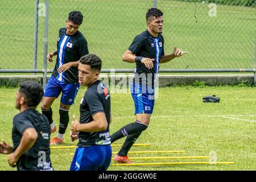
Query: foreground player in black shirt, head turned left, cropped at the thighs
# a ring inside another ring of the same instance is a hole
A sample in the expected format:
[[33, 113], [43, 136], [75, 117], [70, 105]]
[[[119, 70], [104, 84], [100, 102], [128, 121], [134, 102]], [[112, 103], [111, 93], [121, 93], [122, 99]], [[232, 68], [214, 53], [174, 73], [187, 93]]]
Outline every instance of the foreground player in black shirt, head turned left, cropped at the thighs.
[[98, 80], [101, 59], [96, 55], [82, 56], [79, 63], [79, 84], [87, 86], [80, 102], [80, 122], [74, 117], [71, 139], [79, 138], [71, 171], [105, 171], [110, 164], [110, 95]]

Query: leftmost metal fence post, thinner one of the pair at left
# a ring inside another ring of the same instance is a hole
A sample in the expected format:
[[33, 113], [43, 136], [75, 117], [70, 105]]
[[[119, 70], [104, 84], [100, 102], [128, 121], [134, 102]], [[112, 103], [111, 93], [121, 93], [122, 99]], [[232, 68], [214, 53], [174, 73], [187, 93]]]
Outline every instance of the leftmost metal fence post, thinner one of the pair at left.
[[[32, 69], [36, 69], [38, 59], [38, 4], [39, 0], [35, 0], [34, 55]], [[36, 75], [36, 73], [34, 73], [34, 75]]]

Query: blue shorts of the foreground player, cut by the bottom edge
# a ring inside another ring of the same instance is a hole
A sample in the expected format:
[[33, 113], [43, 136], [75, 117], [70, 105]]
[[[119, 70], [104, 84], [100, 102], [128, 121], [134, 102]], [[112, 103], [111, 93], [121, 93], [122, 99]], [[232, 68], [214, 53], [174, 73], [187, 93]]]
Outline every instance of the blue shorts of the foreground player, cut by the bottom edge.
[[77, 147], [71, 163], [71, 171], [106, 171], [112, 157], [110, 145]]

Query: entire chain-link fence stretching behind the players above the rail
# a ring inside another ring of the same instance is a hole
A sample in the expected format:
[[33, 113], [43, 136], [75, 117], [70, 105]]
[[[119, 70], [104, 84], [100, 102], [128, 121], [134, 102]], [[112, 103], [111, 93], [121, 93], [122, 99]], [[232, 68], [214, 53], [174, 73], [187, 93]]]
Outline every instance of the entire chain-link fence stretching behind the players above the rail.
[[[89, 52], [104, 61], [103, 69], [133, 69], [134, 64], [122, 62], [122, 54], [146, 30], [147, 9], [157, 6], [164, 13], [165, 52], [171, 53], [175, 45], [189, 52], [160, 68], [255, 68], [254, 0], [17, 0], [0, 4], [0, 71], [43, 69], [46, 1], [47, 52], [56, 50], [59, 29], [65, 27], [68, 13], [79, 10], [84, 15], [79, 30], [88, 41]], [[53, 67], [54, 63], [47, 68]]]

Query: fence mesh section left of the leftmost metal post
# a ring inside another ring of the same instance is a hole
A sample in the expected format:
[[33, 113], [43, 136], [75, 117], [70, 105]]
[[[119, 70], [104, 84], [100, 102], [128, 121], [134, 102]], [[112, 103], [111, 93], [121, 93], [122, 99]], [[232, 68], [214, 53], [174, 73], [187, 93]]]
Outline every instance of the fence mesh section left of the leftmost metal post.
[[32, 69], [33, 1], [1, 1], [0, 9], [0, 69]]

